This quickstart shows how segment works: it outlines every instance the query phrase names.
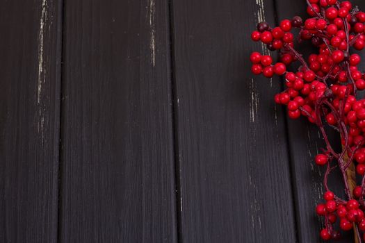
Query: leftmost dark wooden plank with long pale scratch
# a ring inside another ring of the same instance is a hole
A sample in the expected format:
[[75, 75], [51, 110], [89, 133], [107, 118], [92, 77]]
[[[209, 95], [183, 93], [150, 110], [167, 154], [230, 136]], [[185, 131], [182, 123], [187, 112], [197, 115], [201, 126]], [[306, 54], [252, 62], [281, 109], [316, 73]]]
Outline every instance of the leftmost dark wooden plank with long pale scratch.
[[0, 242], [56, 242], [60, 1], [0, 4]]

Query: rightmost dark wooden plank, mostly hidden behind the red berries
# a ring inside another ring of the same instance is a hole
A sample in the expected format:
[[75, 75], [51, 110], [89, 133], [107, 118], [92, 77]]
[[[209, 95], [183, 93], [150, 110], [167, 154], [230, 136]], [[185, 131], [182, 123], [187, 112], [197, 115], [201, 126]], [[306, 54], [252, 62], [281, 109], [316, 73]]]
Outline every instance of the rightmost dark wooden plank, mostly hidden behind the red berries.
[[[362, 9], [365, 9], [363, 1], [352, 1]], [[295, 15], [307, 18], [307, 3], [305, 1], [276, 0], [277, 17], [291, 19]], [[274, 24], [274, 23], [271, 23]], [[297, 45], [305, 57], [311, 53], [306, 44]], [[319, 231], [323, 227], [323, 218], [316, 216], [316, 205], [323, 202], [323, 168], [318, 168], [314, 163], [314, 156], [321, 152], [324, 141], [318, 128], [309, 124], [305, 119], [289, 120], [288, 123], [289, 144], [291, 150], [291, 162], [293, 173], [293, 185], [295, 187], [295, 208], [298, 221], [298, 236], [300, 242], [319, 242]], [[334, 141], [333, 146], [341, 149], [339, 137], [336, 133], [330, 132], [330, 140]], [[343, 194], [341, 174], [334, 171], [330, 176], [329, 185], [334, 192]], [[336, 242], [350, 242], [352, 232], [346, 234], [343, 240]]]

